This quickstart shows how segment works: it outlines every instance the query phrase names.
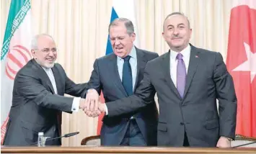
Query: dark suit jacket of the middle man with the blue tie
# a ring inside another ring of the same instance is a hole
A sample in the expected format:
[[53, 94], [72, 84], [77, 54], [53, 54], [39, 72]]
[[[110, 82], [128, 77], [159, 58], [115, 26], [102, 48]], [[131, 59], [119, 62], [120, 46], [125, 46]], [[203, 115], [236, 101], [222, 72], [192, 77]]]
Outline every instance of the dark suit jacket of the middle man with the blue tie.
[[[134, 91], [143, 78], [146, 63], [158, 57], [156, 53], [138, 48], [136, 48], [136, 54], [137, 76]], [[109, 101], [115, 101], [128, 96], [118, 74], [117, 56], [114, 53], [95, 60], [94, 70], [92, 71], [88, 86], [90, 89], [96, 89], [99, 94], [102, 91], [106, 104]], [[134, 116], [134, 114], [136, 115]], [[138, 112], [123, 114], [118, 117], [104, 117], [100, 133], [101, 145], [120, 145], [131, 116], [136, 117], [136, 122], [142, 135], [144, 135], [146, 143], [148, 145], [156, 145], [158, 111], [155, 102]]]

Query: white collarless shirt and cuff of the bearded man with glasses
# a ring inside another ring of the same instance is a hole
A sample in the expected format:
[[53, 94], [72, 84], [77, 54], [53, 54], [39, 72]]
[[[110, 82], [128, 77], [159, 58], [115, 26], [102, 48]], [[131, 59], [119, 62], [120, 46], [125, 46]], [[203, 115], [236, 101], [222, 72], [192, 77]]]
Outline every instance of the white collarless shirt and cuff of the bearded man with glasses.
[[[56, 81], [55, 81], [55, 78], [53, 76], [53, 71], [51, 70], [51, 68], [44, 68], [44, 67], [42, 67], [42, 68], [50, 79], [50, 83], [53, 86], [54, 93], [58, 94]], [[72, 112], [78, 112], [79, 111], [79, 101], [80, 101], [79, 97], [74, 97], [72, 107], [71, 107]]]

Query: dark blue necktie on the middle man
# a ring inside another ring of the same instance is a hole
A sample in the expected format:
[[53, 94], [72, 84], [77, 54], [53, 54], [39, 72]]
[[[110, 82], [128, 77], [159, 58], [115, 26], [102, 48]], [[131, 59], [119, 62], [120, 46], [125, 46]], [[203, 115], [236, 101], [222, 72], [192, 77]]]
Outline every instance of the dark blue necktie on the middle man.
[[130, 58], [130, 55], [127, 55], [125, 58], [123, 58], [124, 63], [122, 83], [128, 96], [133, 94], [133, 77], [131, 73], [131, 65], [129, 63]]

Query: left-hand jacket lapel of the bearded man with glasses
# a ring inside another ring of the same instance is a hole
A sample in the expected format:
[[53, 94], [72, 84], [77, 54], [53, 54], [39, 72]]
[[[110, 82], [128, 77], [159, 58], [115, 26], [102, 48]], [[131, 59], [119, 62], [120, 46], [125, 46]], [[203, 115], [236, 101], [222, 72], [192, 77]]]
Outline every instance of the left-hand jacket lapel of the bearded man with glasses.
[[34, 60], [32, 59], [32, 63], [33, 65], [35, 65], [36, 70], [38, 72], [38, 76], [40, 78], [43, 78], [43, 81], [45, 81], [45, 83], [47, 84], [47, 86], [49, 86], [50, 91], [55, 94], [54, 89], [53, 89], [53, 85], [50, 82], [50, 78], [48, 77], [47, 73], [43, 70], [43, 68]]

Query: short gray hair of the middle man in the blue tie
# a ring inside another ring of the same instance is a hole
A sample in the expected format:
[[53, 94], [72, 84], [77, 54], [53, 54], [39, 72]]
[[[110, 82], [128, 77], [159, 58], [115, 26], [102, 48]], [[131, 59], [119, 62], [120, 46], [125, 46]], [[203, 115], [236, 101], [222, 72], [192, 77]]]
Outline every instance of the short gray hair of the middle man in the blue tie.
[[126, 19], [126, 18], [114, 19], [114, 21], [112, 21], [110, 23], [110, 25], [108, 26], [108, 33], [110, 33], [110, 27], [118, 26], [120, 22], [123, 22], [125, 24], [126, 31], [127, 31], [128, 35], [132, 35], [134, 33], [133, 22], [131, 22], [131, 20]]

